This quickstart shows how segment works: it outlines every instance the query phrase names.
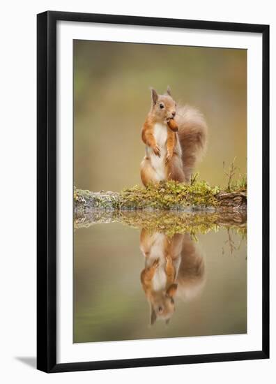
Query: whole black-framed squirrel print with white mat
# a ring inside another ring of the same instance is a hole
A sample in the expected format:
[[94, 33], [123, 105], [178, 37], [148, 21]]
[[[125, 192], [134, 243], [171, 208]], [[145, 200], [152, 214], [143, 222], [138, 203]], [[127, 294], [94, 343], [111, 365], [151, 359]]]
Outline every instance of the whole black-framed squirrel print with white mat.
[[38, 369], [269, 357], [269, 27], [38, 15]]

